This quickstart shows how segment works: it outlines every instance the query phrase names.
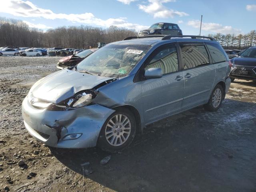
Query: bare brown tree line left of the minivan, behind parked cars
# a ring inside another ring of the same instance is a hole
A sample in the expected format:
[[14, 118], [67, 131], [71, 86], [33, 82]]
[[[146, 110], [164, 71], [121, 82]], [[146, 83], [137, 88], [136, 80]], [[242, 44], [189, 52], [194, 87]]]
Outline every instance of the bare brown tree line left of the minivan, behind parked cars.
[[68, 26], [47, 31], [30, 28], [28, 24], [15, 19], [0, 18], [0, 47], [96, 47], [98, 42], [115, 42], [128, 36], [136, 36], [135, 30], [110, 26]]

